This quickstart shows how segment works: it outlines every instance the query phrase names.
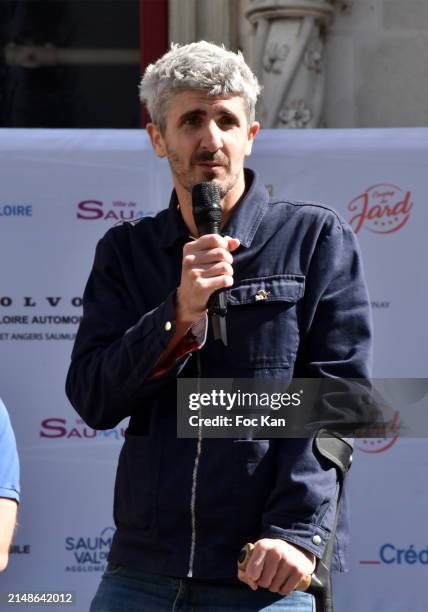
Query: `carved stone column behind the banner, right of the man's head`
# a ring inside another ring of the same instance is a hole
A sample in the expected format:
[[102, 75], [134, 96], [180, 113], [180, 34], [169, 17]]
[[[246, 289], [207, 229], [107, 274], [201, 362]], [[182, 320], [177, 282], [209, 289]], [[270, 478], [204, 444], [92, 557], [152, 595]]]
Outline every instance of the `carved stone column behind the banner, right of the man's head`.
[[335, 0], [247, 0], [250, 57], [263, 85], [266, 128], [316, 128], [324, 101], [326, 26]]

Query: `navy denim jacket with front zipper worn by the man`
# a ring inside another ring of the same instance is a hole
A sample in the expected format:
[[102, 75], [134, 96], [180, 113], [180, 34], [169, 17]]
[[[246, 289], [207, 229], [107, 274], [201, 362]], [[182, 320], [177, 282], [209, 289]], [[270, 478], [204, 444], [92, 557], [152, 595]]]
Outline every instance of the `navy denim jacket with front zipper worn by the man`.
[[[209, 331], [201, 375], [367, 377], [370, 308], [352, 230], [325, 206], [270, 200], [254, 173], [247, 170], [246, 179], [250, 187], [224, 228], [241, 241], [228, 290], [228, 346]], [[185, 355], [150, 376], [174, 333], [187, 240], [173, 193], [156, 217], [106, 233], [84, 292], [68, 397], [94, 428], [131, 416], [110, 561], [173, 576], [232, 577], [241, 546], [262, 537], [321, 557], [337, 478], [313, 441], [204, 439], [195, 470], [197, 440], [176, 436], [176, 379], [196, 376], [197, 360]], [[260, 289], [266, 300], [255, 300]], [[343, 569], [344, 520], [336, 544], [335, 567]]]

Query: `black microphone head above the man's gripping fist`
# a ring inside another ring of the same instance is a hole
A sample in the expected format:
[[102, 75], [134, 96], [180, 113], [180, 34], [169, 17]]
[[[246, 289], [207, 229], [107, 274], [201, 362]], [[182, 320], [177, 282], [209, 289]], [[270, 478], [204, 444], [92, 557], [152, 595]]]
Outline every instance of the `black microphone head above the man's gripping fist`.
[[200, 236], [220, 233], [222, 217], [220, 199], [220, 189], [211, 181], [198, 183], [193, 187], [193, 217]]

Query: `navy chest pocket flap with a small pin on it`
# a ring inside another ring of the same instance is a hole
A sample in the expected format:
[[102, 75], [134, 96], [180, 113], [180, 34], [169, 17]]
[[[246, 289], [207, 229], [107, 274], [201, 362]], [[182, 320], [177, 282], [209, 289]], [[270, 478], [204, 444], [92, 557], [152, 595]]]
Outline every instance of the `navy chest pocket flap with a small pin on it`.
[[300, 274], [277, 274], [246, 278], [227, 291], [232, 306], [263, 302], [297, 302], [305, 292], [305, 277]]

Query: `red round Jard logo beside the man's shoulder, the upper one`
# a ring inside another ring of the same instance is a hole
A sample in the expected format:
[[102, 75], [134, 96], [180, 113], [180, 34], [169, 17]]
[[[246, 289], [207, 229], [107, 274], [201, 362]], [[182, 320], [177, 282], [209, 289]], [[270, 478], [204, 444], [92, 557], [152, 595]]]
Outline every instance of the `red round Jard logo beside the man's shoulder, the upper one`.
[[413, 208], [410, 191], [396, 185], [379, 183], [355, 197], [349, 204], [349, 225], [358, 234], [366, 229], [374, 234], [392, 234], [402, 229]]

